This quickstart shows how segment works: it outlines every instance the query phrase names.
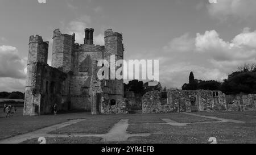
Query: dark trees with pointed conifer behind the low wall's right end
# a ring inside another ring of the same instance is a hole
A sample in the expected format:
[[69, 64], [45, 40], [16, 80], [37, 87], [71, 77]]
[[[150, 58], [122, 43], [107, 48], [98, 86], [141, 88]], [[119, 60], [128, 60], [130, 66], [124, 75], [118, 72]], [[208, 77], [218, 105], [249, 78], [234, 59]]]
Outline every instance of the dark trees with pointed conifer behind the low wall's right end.
[[256, 64], [238, 66], [236, 72], [230, 74], [223, 82], [195, 79], [193, 72], [191, 72], [189, 82], [184, 83], [182, 89], [220, 90], [225, 94], [256, 94]]

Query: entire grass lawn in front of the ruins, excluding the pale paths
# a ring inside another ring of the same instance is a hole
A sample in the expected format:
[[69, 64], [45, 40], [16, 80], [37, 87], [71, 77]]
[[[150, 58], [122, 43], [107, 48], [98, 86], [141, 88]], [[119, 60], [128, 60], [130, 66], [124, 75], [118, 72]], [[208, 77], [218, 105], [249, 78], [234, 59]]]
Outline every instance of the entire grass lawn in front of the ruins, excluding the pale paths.
[[[90, 115], [89, 112], [74, 112], [60, 115], [22, 116], [22, 110], [11, 118], [0, 118], [0, 140], [10, 136], [35, 131], [54, 124], [67, 122], [69, 119], [85, 119], [82, 122], [57, 129], [51, 133], [107, 133], [120, 119], [129, 119], [127, 133], [151, 133], [148, 137], [130, 137], [127, 141], [113, 143], [209, 143], [209, 137], [216, 137], [218, 143], [256, 143], [256, 117], [253, 112], [228, 114], [224, 112], [196, 112], [207, 116], [242, 120], [246, 123], [207, 123], [188, 124], [176, 127], [164, 123], [169, 118], [180, 123], [211, 122], [198, 116], [185, 114], [125, 114], [125, 115]], [[47, 143], [101, 143], [98, 137], [49, 137]], [[24, 143], [38, 143], [37, 139]]]

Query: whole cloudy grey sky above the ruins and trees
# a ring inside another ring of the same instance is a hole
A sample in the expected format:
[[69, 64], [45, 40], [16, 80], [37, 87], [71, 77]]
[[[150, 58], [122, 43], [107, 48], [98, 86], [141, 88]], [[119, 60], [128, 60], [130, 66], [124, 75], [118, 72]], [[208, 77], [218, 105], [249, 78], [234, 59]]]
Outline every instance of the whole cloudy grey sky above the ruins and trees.
[[238, 65], [256, 62], [255, 0], [0, 0], [0, 91], [24, 91], [28, 37], [95, 29], [123, 33], [125, 59], [159, 59], [160, 82], [180, 88], [189, 72], [222, 81]]

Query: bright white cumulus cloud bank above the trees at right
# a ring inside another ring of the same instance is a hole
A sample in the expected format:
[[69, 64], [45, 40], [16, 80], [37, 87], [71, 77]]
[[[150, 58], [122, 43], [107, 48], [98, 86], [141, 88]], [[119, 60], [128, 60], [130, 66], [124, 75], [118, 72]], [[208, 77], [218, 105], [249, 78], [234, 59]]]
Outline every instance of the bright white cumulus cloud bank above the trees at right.
[[197, 33], [195, 37], [187, 33], [176, 37], [163, 47], [161, 55], [166, 58], [160, 59], [160, 81], [180, 88], [188, 82], [191, 71], [197, 79], [222, 81], [237, 66], [256, 62], [255, 38], [256, 32], [250, 28], [244, 28], [229, 41], [216, 30]]

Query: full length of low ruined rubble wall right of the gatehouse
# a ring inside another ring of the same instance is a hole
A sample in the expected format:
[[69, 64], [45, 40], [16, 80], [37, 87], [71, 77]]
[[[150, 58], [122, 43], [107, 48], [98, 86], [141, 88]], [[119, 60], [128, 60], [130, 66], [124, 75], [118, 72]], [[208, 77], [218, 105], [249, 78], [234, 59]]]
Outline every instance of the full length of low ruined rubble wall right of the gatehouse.
[[255, 111], [256, 95], [225, 95], [210, 90], [150, 91], [142, 97], [142, 112]]

